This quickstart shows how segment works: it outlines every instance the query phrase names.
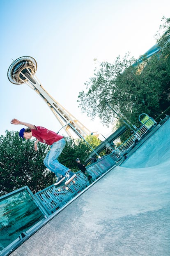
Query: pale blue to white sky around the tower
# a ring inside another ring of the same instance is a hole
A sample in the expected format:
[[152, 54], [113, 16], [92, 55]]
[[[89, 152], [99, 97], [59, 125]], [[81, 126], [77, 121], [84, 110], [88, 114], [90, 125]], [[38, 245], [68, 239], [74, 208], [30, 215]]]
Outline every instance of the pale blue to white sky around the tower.
[[94, 59], [113, 63], [127, 52], [138, 58], [156, 43], [169, 10], [169, 0], [0, 0], [0, 134], [22, 128], [10, 124], [14, 117], [56, 132], [61, 128], [37, 93], [7, 78], [12, 59], [32, 56], [46, 91], [90, 131], [109, 135], [112, 125], [90, 120], [77, 103]]

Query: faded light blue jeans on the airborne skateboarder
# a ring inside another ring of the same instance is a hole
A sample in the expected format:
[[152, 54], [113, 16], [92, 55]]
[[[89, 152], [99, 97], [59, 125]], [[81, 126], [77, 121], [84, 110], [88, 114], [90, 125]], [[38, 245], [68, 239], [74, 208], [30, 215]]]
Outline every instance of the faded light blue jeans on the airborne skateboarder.
[[66, 172], [69, 170], [69, 168], [65, 167], [63, 164], [60, 164], [57, 160], [59, 155], [62, 153], [62, 150], [64, 149], [65, 145], [66, 142], [64, 141], [64, 139], [54, 142], [50, 146], [50, 151], [44, 158], [44, 165], [50, 171], [53, 171], [56, 176], [65, 176]]

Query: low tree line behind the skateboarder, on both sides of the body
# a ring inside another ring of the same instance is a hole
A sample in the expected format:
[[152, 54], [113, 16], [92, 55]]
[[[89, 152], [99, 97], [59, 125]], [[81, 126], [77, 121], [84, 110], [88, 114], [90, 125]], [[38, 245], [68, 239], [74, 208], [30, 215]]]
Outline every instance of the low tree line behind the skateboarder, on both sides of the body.
[[[64, 138], [66, 146], [62, 151], [59, 162], [78, 171], [76, 158], [85, 161], [92, 148], [100, 144], [95, 136], [87, 136], [83, 140]], [[4, 195], [13, 190], [28, 186], [33, 193], [54, 183], [55, 175], [46, 169], [43, 160], [49, 148], [44, 143], [38, 143], [38, 151], [34, 150], [35, 140], [25, 140], [18, 136], [18, 132], [6, 131], [0, 136], [0, 194]]]

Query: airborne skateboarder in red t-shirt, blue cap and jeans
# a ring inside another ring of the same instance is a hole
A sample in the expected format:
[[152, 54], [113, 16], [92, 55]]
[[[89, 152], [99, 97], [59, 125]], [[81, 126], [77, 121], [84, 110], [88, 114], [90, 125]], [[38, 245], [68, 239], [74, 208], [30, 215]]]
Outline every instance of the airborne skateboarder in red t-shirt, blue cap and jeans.
[[37, 143], [40, 141], [46, 143], [50, 146], [50, 150], [44, 158], [44, 165], [55, 173], [57, 180], [55, 186], [64, 182], [65, 185], [70, 183], [73, 178], [76, 176], [69, 168], [65, 167], [63, 164], [60, 164], [57, 160], [59, 155], [62, 153], [62, 150], [65, 146], [65, 140], [63, 136], [56, 134], [55, 132], [48, 130], [41, 126], [35, 126], [26, 122], [21, 122], [18, 119], [14, 118], [11, 120], [11, 124], [21, 124], [27, 126], [28, 128], [23, 128], [19, 132], [19, 136], [23, 139], [31, 139], [32, 136], [37, 140], [34, 143], [34, 149], [37, 151]]

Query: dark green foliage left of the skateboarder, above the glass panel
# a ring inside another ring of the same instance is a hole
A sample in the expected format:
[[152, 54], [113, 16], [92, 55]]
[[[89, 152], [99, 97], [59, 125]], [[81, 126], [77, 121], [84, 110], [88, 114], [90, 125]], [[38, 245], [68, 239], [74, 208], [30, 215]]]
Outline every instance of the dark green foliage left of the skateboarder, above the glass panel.
[[34, 140], [23, 141], [18, 132], [6, 131], [0, 136], [1, 195], [23, 186], [37, 192], [53, 183], [53, 174], [43, 163], [48, 147], [43, 143], [38, 147], [36, 152]]

